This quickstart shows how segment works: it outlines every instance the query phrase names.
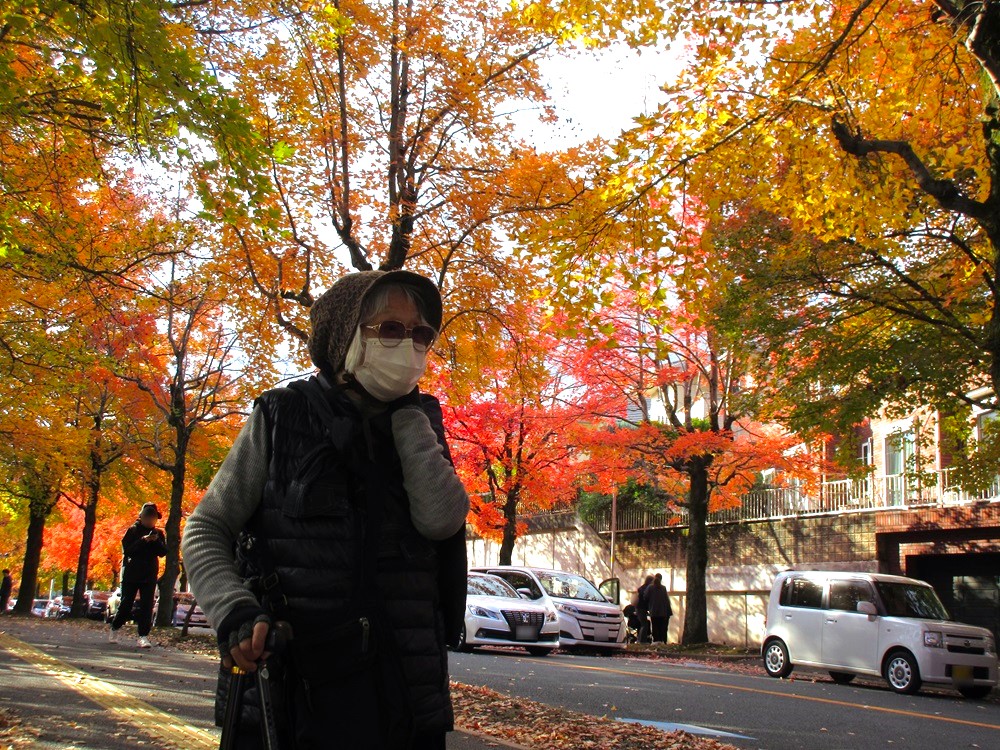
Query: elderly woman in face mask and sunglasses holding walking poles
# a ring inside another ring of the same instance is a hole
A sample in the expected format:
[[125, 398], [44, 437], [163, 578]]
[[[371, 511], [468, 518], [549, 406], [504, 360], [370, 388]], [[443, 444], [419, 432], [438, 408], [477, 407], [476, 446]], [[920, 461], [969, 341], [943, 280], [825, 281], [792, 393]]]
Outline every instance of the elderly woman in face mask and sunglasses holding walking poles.
[[[441, 297], [406, 271], [353, 273], [310, 318], [319, 374], [257, 399], [188, 519], [185, 567], [225, 665], [253, 671], [290, 623], [268, 669], [283, 748], [443, 749], [469, 500], [416, 388]], [[237, 747], [260, 745], [258, 718], [251, 689]]]

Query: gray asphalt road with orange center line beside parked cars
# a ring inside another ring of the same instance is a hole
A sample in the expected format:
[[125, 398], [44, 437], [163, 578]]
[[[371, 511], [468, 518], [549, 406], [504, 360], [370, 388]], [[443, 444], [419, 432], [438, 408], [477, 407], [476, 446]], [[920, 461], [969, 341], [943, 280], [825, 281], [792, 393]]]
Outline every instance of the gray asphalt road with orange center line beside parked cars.
[[761, 750], [1000, 748], [1000, 701], [934, 691], [892, 693], [875, 681], [836, 685], [626, 657], [517, 652], [454, 654], [451, 675], [508, 695], [597, 716], [648, 722]]

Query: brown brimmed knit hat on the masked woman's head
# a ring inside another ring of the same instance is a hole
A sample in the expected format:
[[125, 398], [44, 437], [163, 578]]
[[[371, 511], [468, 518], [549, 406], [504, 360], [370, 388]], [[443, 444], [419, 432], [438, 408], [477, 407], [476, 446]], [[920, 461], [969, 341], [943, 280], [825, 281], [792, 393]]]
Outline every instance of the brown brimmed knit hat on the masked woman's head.
[[309, 309], [312, 332], [309, 356], [323, 372], [336, 374], [344, 365], [347, 347], [361, 322], [361, 303], [377, 286], [399, 284], [413, 288], [424, 303], [427, 323], [441, 330], [441, 293], [430, 279], [412, 271], [358, 271], [338, 279]]

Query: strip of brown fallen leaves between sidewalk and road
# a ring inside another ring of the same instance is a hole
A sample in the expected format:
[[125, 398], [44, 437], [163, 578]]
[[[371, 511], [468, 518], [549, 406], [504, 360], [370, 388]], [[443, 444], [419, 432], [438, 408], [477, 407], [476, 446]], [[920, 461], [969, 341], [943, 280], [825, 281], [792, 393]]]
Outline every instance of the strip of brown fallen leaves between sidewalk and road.
[[716, 740], [546, 706], [485, 687], [451, 684], [459, 727], [531, 750], [735, 750]]

